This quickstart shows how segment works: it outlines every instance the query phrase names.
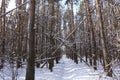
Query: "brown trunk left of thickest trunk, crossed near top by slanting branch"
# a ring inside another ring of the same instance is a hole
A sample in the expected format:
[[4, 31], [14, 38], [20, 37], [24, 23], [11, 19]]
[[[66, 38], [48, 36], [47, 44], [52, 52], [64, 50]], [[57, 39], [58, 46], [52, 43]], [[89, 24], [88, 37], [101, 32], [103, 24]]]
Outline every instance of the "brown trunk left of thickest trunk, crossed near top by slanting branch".
[[[16, 5], [22, 4], [22, 0], [16, 0]], [[17, 46], [17, 68], [22, 67], [21, 57], [22, 57], [22, 23], [21, 23], [21, 7], [17, 9], [17, 29], [18, 29], [18, 46]]]

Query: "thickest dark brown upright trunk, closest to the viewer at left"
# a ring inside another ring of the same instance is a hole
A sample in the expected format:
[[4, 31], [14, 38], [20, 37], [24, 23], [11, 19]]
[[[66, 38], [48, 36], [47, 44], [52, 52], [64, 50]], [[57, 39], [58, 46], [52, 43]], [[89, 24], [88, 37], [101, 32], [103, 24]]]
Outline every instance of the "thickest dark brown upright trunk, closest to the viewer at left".
[[29, 15], [29, 51], [26, 71], [26, 80], [34, 80], [35, 77], [35, 0], [30, 0], [30, 15]]

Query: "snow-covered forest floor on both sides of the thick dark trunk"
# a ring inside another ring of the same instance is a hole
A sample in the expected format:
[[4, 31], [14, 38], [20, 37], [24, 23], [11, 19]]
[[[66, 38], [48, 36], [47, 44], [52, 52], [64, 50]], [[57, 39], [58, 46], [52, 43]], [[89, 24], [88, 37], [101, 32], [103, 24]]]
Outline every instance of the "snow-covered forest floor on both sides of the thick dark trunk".
[[[25, 68], [19, 69], [17, 80], [25, 80]], [[9, 74], [9, 76], [8, 76]], [[4, 74], [0, 73], [0, 80], [12, 80], [10, 79], [10, 71]], [[94, 71], [84, 63], [75, 64], [72, 60], [67, 59], [63, 55], [59, 64], [55, 64], [53, 72], [50, 72], [48, 68], [36, 68], [35, 80], [113, 80], [105, 76], [102, 70]]]

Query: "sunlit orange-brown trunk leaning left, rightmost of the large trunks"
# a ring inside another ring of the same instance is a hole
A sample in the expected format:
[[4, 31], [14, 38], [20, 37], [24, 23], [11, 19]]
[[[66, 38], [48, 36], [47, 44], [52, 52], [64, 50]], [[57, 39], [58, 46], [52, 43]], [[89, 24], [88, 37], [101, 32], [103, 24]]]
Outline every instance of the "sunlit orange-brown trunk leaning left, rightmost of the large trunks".
[[104, 28], [103, 28], [103, 20], [102, 20], [102, 12], [100, 6], [100, 0], [96, 0], [96, 9], [97, 9], [97, 16], [99, 20], [99, 27], [100, 27], [100, 37], [101, 37], [101, 46], [102, 46], [102, 53], [103, 53], [103, 64], [104, 70], [106, 71], [108, 76], [112, 76], [112, 69], [108, 65], [109, 61], [107, 61], [108, 53], [105, 46], [105, 36], [104, 36]]

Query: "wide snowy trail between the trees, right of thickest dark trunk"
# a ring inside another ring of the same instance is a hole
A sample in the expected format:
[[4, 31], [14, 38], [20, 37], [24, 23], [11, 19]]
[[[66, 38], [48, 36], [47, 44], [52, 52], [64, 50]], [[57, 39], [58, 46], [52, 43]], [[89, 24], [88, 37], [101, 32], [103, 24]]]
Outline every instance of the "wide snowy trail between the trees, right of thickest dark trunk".
[[[43, 73], [41, 73], [43, 72]], [[40, 76], [41, 75], [41, 76]], [[39, 77], [38, 77], [39, 76]], [[63, 55], [59, 64], [56, 64], [53, 72], [40, 70], [36, 73], [35, 80], [110, 80], [103, 74], [87, 67], [84, 63], [75, 64]]]

